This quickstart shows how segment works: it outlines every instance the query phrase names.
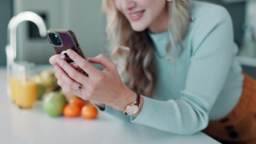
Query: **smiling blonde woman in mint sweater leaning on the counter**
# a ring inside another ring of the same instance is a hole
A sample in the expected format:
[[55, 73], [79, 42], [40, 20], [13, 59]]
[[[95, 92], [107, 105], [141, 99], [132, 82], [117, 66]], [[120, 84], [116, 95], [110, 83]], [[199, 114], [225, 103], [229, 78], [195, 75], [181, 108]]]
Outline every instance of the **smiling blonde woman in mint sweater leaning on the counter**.
[[64, 92], [120, 118], [130, 115], [136, 124], [177, 134], [205, 129], [222, 142], [253, 142], [256, 82], [234, 59], [225, 8], [189, 0], [104, 0], [103, 8], [115, 63], [102, 54], [88, 62], [73, 50], [67, 51], [72, 65], [64, 55], [52, 56]]

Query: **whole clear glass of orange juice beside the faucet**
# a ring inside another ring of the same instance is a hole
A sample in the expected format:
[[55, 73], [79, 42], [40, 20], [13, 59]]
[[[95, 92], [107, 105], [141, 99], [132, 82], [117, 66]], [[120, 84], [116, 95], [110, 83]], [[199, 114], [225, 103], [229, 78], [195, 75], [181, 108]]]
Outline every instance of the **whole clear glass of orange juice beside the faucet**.
[[30, 109], [37, 101], [37, 83], [32, 82], [34, 64], [14, 63], [10, 71], [11, 100], [23, 109]]

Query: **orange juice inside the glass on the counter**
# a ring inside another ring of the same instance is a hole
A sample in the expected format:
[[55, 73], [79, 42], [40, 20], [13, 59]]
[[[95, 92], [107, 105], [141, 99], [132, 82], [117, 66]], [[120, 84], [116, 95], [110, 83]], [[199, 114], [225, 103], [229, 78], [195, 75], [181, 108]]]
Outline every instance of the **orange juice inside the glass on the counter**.
[[23, 109], [32, 108], [37, 100], [37, 83], [10, 77], [11, 98]]

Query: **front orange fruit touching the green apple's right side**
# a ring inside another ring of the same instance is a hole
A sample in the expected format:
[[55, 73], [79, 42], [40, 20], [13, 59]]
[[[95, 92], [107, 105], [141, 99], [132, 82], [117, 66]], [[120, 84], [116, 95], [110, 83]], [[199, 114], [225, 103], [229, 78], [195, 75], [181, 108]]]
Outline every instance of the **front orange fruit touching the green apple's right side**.
[[81, 108], [76, 104], [67, 104], [63, 109], [63, 115], [69, 118], [78, 117], [81, 114]]

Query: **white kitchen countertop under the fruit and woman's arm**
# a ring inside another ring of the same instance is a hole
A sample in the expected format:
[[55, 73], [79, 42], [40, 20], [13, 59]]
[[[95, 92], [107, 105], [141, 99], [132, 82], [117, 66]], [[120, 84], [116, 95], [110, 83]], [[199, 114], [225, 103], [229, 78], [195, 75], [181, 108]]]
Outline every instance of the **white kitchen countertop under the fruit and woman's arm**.
[[180, 136], [139, 124], [123, 122], [99, 113], [94, 120], [52, 118], [43, 111], [42, 103], [34, 109], [19, 109], [7, 96], [6, 70], [0, 67], [0, 143], [219, 143], [204, 133]]

